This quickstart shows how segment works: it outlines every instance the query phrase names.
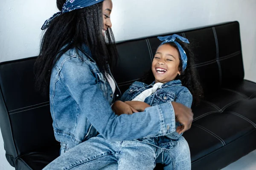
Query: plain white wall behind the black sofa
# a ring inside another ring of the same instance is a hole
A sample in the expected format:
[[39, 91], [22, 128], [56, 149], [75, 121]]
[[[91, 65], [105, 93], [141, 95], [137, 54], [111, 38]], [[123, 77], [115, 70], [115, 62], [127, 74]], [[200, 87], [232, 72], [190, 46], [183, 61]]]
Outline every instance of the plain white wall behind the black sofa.
[[[41, 26], [55, 0], [1, 0], [0, 62], [38, 55]], [[256, 0], [113, 0], [116, 40], [127, 40], [238, 20], [245, 79], [256, 82]], [[0, 170], [6, 161], [0, 135]]]

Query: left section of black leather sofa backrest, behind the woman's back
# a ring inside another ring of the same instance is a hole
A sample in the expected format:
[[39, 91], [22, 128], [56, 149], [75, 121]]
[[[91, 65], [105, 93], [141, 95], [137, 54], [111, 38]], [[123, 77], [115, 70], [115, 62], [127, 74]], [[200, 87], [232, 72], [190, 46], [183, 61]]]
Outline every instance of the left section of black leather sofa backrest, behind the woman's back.
[[35, 59], [0, 64], [0, 127], [9, 162], [56, 144], [49, 99], [35, 91]]

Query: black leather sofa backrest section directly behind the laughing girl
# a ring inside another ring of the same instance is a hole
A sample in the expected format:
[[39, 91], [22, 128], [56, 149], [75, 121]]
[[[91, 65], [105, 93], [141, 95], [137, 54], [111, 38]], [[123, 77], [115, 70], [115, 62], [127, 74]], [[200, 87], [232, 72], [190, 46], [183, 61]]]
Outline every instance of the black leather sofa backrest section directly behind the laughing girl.
[[[174, 33], [162, 34], [160, 36]], [[231, 22], [175, 33], [186, 37], [195, 54], [205, 93], [244, 79], [239, 23]], [[157, 36], [120, 42], [119, 62], [113, 75], [122, 92], [151, 68], [151, 61], [160, 45]]]

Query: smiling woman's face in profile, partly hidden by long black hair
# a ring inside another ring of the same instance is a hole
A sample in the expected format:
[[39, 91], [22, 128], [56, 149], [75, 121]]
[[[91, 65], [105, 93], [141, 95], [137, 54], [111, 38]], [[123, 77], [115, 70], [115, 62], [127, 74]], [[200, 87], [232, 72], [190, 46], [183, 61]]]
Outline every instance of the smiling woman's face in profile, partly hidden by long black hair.
[[102, 5], [102, 14], [103, 14], [103, 28], [102, 32], [103, 35], [105, 35], [105, 31], [107, 31], [108, 28], [111, 28], [112, 23], [110, 20], [110, 14], [113, 8], [112, 0], [104, 0]]

